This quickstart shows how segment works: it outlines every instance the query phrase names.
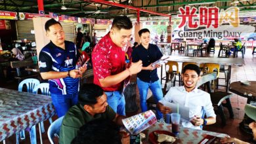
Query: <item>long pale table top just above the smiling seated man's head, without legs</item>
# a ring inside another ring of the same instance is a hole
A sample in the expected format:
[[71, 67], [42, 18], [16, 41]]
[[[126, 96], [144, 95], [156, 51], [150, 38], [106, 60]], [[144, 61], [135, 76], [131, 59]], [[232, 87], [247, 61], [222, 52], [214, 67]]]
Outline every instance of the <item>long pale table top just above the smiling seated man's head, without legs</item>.
[[176, 62], [219, 63], [221, 65], [244, 65], [244, 59], [242, 58], [169, 56], [167, 60]]

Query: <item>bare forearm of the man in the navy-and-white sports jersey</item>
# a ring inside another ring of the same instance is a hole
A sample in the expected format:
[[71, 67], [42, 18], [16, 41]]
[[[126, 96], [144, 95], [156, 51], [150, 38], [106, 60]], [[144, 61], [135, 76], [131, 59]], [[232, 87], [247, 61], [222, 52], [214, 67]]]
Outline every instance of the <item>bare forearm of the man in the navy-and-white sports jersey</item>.
[[61, 79], [68, 77], [68, 71], [59, 72], [59, 71], [48, 71], [40, 73], [42, 79]]

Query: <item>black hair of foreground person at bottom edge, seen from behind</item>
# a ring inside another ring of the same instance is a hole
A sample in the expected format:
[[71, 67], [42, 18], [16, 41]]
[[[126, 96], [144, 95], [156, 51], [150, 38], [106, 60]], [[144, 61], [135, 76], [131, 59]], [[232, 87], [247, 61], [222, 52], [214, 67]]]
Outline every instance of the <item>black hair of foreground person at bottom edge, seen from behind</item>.
[[96, 119], [81, 126], [72, 144], [121, 144], [119, 126], [112, 120]]

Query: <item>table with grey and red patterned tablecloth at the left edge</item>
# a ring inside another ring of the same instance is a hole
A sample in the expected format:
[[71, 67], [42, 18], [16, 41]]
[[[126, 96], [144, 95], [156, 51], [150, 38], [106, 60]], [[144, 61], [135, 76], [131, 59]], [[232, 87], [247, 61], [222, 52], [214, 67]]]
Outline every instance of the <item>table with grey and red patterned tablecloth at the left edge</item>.
[[[55, 115], [51, 97], [0, 88], [0, 141]], [[37, 143], [36, 138], [31, 139]]]

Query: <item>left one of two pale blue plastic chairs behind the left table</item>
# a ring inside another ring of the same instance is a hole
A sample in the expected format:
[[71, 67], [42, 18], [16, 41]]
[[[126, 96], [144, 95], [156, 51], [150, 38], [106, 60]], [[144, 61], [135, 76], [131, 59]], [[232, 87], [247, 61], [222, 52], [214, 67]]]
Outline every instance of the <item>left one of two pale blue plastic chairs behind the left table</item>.
[[[38, 79], [25, 79], [22, 82], [20, 82], [20, 84], [18, 84], [18, 92], [22, 92], [23, 86], [26, 85], [26, 92], [32, 93], [33, 88], [38, 84], [40, 84], [40, 81]], [[25, 130], [22, 130], [20, 134], [18, 134], [18, 132], [16, 133], [16, 143], [18, 143], [18, 137], [20, 137], [20, 139], [25, 139]]]

